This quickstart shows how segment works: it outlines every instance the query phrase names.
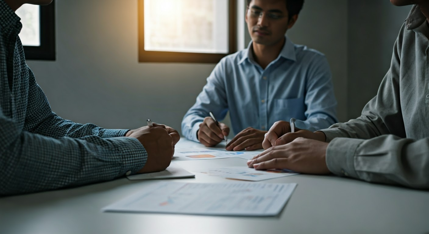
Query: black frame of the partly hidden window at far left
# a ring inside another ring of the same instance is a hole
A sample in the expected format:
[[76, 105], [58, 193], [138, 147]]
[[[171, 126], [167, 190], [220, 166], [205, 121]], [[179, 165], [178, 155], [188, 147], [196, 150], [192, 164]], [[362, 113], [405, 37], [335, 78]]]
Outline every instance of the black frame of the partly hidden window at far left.
[[23, 46], [26, 60], [56, 60], [55, 0], [40, 7], [40, 46]]

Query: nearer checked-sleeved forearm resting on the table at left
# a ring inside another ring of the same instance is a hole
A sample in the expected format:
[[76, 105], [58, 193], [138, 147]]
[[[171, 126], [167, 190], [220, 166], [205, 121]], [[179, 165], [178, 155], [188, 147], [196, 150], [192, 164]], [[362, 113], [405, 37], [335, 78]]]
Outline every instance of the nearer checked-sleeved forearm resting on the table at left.
[[0, 195], [44, 191], [136, 173], [147, 153], [130, 137], [51, 138], [15, 132], [2, 139]]

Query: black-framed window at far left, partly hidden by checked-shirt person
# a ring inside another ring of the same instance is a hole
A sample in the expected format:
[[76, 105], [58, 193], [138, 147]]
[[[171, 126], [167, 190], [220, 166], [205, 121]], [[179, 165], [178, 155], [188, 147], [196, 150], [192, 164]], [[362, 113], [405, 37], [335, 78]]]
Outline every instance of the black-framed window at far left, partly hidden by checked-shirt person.
[[21, 18], [19, 33], [25, 59], [55, 60], [55, 7], [22, 5], [16, 14]]

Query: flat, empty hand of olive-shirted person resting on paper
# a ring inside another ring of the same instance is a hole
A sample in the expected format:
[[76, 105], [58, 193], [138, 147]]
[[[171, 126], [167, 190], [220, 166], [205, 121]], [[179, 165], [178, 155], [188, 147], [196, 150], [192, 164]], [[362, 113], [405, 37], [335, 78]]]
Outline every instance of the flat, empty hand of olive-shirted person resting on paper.
[[326, 166], [328, 143], [296, 138], [291, 143], [273, 146], [247, 161], [256, 170], [289, 169], [299, 173], [329, 174]]

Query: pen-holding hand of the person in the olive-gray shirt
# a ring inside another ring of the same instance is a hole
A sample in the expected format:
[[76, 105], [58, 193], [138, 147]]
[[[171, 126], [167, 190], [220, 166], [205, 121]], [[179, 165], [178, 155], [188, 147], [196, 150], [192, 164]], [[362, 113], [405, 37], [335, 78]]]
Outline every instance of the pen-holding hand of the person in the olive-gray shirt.
[[290, 124], [286, 121], [277, 121], [265, 134], [265, 139], [262, 143], [264, 149], [271, 146], [280, 146], [292, 142], [298, 137], [307, 139], [319, 140], [325, 142], [326, 136], [321, 131], [311, 132], [305, 129], [295, 127], [295, 132], [291, 133]]

